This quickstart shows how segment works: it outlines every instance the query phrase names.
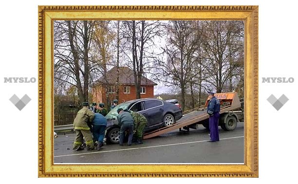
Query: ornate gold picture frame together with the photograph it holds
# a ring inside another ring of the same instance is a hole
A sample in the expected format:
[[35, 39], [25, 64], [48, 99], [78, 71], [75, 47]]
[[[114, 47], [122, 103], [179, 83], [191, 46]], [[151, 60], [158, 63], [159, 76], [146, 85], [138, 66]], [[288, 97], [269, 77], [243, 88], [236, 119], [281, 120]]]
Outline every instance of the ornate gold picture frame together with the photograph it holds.
[[38, 11], [39, 177], [258, 177], [258, 6]]

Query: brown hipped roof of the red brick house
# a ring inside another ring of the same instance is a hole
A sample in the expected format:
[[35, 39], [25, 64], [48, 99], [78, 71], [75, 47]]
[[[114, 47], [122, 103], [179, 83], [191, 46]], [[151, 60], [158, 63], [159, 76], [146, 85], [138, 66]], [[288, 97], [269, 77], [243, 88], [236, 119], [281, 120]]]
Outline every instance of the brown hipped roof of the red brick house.
[[[107, 72], [107, 81], [109, 84], [115, 84], [117, 80], [117, 67], [113, 67]], [[100, 77], [97, 82], [105, 83], [104, 77]], [[133, 71], [128, 67], [119, 67], [119, 84], [132, 84], [134, 85]], [[141, 85], [157, 85], [150, 79], [142, 76]]]

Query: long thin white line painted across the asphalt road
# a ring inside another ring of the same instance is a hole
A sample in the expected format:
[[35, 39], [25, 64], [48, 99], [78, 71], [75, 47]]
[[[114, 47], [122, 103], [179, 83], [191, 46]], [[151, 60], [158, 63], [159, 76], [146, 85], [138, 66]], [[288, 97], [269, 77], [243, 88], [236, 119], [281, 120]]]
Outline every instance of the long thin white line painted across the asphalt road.
[[[242, 138], [242, 137], [244, 137], [244, 136], [222, 138], [221, 140], [237, 139], [237, 138]], [[200, 142], [207, 142], [207, 141], [209, 141], [209, 140], [205, 140], [205, 141], [194, 141], [194, 142], [187, 142], [187, 143], [176, 143], [176, 144], [169, 144], [169, 145], [158, 145], [158, 146], [151, 146], [151, 147], [133, 147], [133, 148], [116, 149], [116, 150], [109, 150], [109, 151], [96, 151], [96, 152], [78, 153], [78, 154], [71, 154], [71, 155], [59, 155], [59, 156], [54, 156], [54, 157], [55, 158], [56, 157], [67, 157], [67, 156], [75, 156], [75, 155], [86, 155], [86, 154], [94, 154], [94, 153], [106, 153], [106, 152], [125, 151], [125, 150], [132, 150], [132, 149], [144, 149], [144, 148], [152, 148], [152, 147], [168, 147], [168, 146], [185, 145], [185, 144], [200, 143]]]

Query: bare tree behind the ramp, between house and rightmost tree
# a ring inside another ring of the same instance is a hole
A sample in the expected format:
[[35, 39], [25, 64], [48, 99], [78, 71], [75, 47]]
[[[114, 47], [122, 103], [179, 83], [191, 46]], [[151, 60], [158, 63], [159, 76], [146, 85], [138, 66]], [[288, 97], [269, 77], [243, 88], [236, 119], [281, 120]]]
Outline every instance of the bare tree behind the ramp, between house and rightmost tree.
[[167, 27], [167, 45], [164, 52], [167, 61], [159, 61], [162, 72], [160, 77], [168, 86], [178, 86], [181, 89], [181, 106], [185, 109], [186, 85], [196, 75], [193, 70], [196, 61], [195, 51], [199, 46], [199, 34], [195, 34], [195, 21], [169, 21]]

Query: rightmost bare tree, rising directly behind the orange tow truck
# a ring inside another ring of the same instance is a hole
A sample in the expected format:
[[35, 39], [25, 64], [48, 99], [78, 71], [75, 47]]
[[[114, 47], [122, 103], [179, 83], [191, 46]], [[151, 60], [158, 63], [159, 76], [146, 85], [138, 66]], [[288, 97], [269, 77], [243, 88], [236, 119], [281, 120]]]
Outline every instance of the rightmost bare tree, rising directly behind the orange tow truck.
[[233, 80], [240, 74], [238, 68], [243, 67], [244, 24], [242, 21], [213, 20], [203, 21], [203, 26], [206, 62], [202, 64], [207, 71], [203, 80], [217, 92], [223, 92], [226, 85], [229, 85], [229, 91], [235, 86]]

